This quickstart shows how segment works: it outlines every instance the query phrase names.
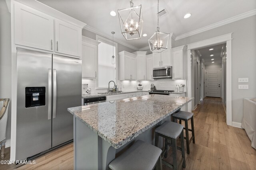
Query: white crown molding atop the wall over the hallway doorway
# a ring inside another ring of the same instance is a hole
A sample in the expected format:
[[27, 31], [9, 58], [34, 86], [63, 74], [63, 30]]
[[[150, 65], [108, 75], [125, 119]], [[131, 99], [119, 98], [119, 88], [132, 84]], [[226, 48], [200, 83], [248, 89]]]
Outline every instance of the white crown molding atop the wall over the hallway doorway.
[[223, 21], [220, 21], [220, 22], [217, 22], [217, 23], [208, 25], [208, 26], [206, 26], [206, 27], [202, 27], [202, 28], [200, 28], [200, 29], [196, 29], [196, 30], [194, 30], [194, 31], [191, 31], [191, 32], [188, 32], [188, 33], [179, 35], [179, 36], [176, 37], [175, 41], [178, 40], [178, 39], [182, 39], [182, 38], [185, 38], [185, 37], [189, 37], [189, 36], [191, 36], [191, 35], [195, 35], [195, 34], [198, 34], [198, 33], [201, 33], [201, 32], [204, 32], [204, 31], [207, 31], [207, 30], [216, 28], [216, 27], [220, 27], [220, 26], [222, 26], [222, 25], [226, 25], [226, 24], [231, 23], [231, 22], [234, 22], [234, 21], [242, 20], [242, 19], [244, 19], [244, 18], [253, 16], [253, 15], [256, 15], [256, 10], [251, 10], [251, 11], [245, 12], [245, 13], [243, 13], [243, 14], [240, 14], [240, 15], [237, 15], [237, 16], [234, 16], [234, 17], [231, 17], [231, 18], [228, 18], [228, 19], [226, 19], [226, 20], [223, 20]]

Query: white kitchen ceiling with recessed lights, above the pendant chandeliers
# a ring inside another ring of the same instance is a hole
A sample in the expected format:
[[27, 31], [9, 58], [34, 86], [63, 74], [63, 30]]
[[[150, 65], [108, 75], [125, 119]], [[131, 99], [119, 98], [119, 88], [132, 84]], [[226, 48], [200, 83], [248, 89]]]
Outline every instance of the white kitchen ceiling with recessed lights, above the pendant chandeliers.
[[[157, 0], [133, 0], [134, 6], [142, 4], [144, 19], [142, 39], [126, 41], [121, 34], [118, 15], [110, 16], [110, 11], [130, 7], [130, 0], [38, 0], [68, 16], [76, 18], [88, 26], [99, 30], [107, 37], [116, 32], [114, 39], [124, 41], [138, 49], [148, 45], [148, 38], [156, 31]], [[161, 32], [182, 35], [196, 29], [226, 20], [233, 16], [256, 9], [256, 0], [160, 0], [159, 11], [167, 14], [159, 18]], [[186, 13], [192, 16], [184, 19]]]

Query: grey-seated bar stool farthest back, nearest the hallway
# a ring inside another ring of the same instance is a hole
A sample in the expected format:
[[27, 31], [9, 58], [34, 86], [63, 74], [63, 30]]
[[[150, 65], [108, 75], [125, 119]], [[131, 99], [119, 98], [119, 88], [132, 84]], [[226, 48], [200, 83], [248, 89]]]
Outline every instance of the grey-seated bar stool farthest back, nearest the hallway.
[[[179, 123], [181, 124], [181, 121], [185, 121], [185, 133], [186, 133], [186, 137], [184, 137], [184, 139], [186, 139], [186, 146], [187, 146], [187, 153], [190, 153], [189, 150], [189, 144], [191, 143], [191, 141], [193, 140], [193, 143], [195, 143], [195, 132], [194, 132], [194, 118], [193, 118], [194, 113], [188, 112], [188, 111], [179, 111], [178, 113], [174, 113], [172, 114], [172, 121], [176, 122], [177, 119], [179, 119]], [[188, 121], [191, 119], [191, 129], [188, 129]], [[192, 132], [192, 137], [189, 139], [188, 136], [188, 131]]]

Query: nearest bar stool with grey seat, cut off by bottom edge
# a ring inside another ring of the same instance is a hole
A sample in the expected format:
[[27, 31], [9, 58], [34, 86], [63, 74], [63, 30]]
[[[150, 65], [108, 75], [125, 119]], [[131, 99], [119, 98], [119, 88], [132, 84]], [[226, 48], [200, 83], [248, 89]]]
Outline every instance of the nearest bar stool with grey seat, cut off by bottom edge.
[[153, 170], [159, 161], [162, 170], [161, 152], [158, 147], [138, 140], [108, 166], [112, 170]]

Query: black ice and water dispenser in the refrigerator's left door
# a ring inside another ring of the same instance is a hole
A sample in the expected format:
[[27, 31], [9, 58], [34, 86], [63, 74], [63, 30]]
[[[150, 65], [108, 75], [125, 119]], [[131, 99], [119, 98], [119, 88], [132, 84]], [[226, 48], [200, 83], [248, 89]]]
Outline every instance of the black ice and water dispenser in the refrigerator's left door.
[[45, 106], [45, 87], [26, 87], [25, 107]]

